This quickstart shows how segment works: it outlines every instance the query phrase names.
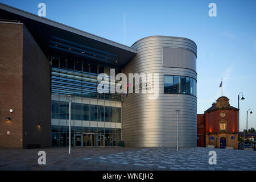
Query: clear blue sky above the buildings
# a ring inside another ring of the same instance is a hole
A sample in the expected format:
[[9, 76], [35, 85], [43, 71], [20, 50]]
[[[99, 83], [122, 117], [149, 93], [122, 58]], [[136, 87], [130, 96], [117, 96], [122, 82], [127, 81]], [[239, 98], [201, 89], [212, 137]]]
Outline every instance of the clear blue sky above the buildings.
[[[197, 44], [197, 113], [204, 113], [223, 95], [230, 105], [240, 102], [240, 128], [256, 129], [256, 1], [16, 1], [10, 6], [38, 14], [46, 3], [46, 18], [78, 28], [114, 42], [131, 46], [151, 35], [180, 36]], [[216, 3], [217, 17], [208, 15]]]

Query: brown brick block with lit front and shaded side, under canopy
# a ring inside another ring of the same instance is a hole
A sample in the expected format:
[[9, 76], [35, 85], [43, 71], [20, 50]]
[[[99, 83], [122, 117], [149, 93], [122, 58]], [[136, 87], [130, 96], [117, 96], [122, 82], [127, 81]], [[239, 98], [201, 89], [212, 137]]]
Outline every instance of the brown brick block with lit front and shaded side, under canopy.
[[[27, 144], [48, 147], [49, 61], [22, 23], [1, 22], [0, 32], [0, 148], [22, 149]], [[38, 123], [42, 123], [40, 128]]]

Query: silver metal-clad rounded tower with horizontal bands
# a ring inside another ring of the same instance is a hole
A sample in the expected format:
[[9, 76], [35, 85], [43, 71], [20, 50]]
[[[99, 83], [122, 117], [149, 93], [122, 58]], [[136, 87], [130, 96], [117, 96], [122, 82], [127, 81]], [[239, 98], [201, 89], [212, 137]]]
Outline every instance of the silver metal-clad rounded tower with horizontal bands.
[[[133, 44], [137, 55], [123, 68], [128, 73], [159, 73], [159, 97], [129, 94], [123, 101], [122, 135], [127, 147], [176, 147], [179, 109], [179, 147], [196, 147], [197, 98], [164, 93], [164, 75], [196, 80], [196, 44], [189, 39], [150, 36]], [[154, 84], [154, 80], [152, 81]]]

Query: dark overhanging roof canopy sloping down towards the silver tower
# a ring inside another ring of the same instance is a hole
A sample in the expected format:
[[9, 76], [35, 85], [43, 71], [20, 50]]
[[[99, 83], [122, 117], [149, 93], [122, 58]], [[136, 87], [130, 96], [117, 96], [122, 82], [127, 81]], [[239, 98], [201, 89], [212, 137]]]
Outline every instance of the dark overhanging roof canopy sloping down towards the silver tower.
[[[73, 46], [76, 45], [76, 49], [81, 48], [81, 50], [83, 50], [82, 47], [90, 48], [90, 50], [85, 50], [93, 53], [96, 52], [99, 54], [99, 57], [102, 56], [102, 58], [104, 56], [109, 57], [109, 61], [106, 63], [117, 67], [123, 67], [137, 53], [137, 50], [131, 47], [115, 43], [111, 40], [89, 34], [88, 32], [39, 17], [38, 15], [2, 3], [0, 3], [0, 19], [17, 20], [23, 23], [45, 54], [48, 53], [49, 47], [51, 48], [50, 45], [53, 38], [55, 38], [55, 40], [56, 38], [59, 39], [61, 43], [73, 43]], [[82, 53], [83, 51], [80, 52]], [[98, 61], [104, 62], [104, 59]]]

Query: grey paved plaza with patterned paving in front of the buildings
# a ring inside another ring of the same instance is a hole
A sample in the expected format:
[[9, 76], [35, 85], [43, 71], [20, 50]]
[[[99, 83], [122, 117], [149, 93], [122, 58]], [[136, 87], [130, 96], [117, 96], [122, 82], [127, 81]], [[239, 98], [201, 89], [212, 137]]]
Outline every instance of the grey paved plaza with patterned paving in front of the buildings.
[[[46, 165], [38, 164], [38, 151], [46, 152]], [[210, 165], [209, 151], [217, 164]], [[214, 170], [256, 171], [256, 151], [219, 148], [77, 147], [0, 150], [0, 170]]]

